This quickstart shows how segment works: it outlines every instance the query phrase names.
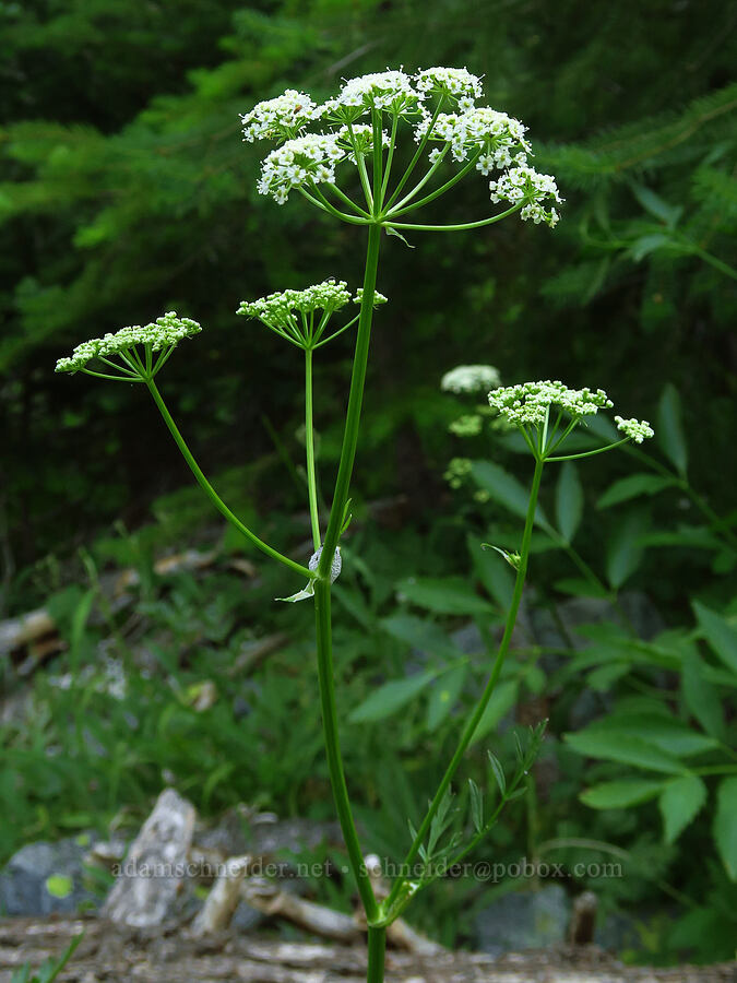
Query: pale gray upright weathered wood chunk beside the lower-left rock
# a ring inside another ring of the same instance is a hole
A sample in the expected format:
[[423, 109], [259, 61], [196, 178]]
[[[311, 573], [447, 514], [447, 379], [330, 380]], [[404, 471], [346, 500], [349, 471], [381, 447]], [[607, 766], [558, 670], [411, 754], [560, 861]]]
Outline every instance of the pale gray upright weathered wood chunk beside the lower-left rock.
[[121, 925], [161, 925], [179, 891], [194, 830], [194, 806], [165, 789], [141, 828], [103, 905]]

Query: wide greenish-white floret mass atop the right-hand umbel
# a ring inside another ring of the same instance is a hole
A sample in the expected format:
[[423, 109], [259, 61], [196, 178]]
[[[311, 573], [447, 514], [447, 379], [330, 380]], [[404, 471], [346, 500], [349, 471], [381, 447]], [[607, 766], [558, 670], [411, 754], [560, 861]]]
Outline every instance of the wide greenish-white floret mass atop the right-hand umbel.
[[562, 382], [521, 382], [495, 389], [489, 405], [509, 423], [523, 427], [545, 423], [548, 411], [557, 406], [569, 416], [593, 416], [599, 410], [610, 410], [611, 400], [603, 389], [569, 389]]

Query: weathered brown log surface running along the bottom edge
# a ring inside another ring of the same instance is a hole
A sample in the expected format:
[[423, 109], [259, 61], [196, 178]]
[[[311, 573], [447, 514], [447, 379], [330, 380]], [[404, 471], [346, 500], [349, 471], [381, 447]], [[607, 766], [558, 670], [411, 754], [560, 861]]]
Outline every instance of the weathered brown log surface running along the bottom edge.
[[[97, 917], [0, 921], [0, 983], [29, 960], [37, 969], [84, 938], [63, 983], [362, 983], [359, 947], [285, 943], [231, 932], [192, 938], [180, 926], [121, 929]], [[737, 983], [737, 962], [669, 969], [625, 967], [593, 946], [491, 959], [474, 952], [388, 952], [388, 983]]]

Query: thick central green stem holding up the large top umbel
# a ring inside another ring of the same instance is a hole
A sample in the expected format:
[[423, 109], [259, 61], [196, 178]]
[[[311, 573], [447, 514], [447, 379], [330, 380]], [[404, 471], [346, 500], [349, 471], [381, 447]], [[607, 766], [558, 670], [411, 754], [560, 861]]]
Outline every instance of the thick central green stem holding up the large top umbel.
[[[335, 808], [348, 852], [348, 862], [353, 876], [358, 887], [361, 903], [366, 912], [369, 925], [379, 914], [371, 881], [364, 864], [364, 855], [358, 842], [356, 824], [350, 809], [348, 789], [343, 771], [341, 743], [337, 729], [337, 711], [335, 707], [335, 682], [333, 677], [333, 643], [331, 624], [331, 580], [330, 570], [332, 559], [337, 546], [343, 524], [345, 506], [348, 500], [350, 476], [356, 458], [358, 443], [358, 427], [360, 411], [364, 400], [364, 386], [366, 382], [366, 368], [368, 365], [369, 342], [371, 339], [371, 320], [373, 317], [373, 293], [376, 289], [377, 269], [379, 265], [379, 244], [381, 226], [369, 226], [368, 249], [366, 254], [366, 272], [364, 275], [364, 294], [360, 316], [358, 318], [358, 332], [356, 337], [356, 351], [354, 355], [353, 375], [350, 378], [350, 392], [346, 411], [345, 431], [343, 435], [343, 448], [341, 462], [337, 469], [333, 504], [328, 522], [328, 530], [318, 566], [318, 576], [314, 581], [314, 618], [318, 650], [318, 678], [320, 682], [320, 704], [322, 709], [322, 726], [328, 755], [328, 768], [330, 781], [335, 800]], [[372, 941], [373, 939], [373, 941]], [[383, 944], [379, 954], [379, 936], [369, 932], [369, 975], [370, 983], [380, 983], [383, 979]], [[373, 948], [371, 948], [373, 946]], [[371, 952], [373, 955], [371, 956]], [[381, 958], [379, 958], [381, 955]]]

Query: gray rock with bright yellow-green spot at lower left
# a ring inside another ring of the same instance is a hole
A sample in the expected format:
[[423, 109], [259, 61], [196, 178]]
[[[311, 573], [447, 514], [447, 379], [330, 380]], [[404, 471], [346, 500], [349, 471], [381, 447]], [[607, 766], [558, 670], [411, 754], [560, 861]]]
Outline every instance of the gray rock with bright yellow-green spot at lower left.
[[19, 850], [0, 873], [0, 915], [76, 912], [83, 903], [96, 908], [99, 898], [83, 886], [88, 849], [88, 843], [72, 837], [57, 843], [28, 843]]

